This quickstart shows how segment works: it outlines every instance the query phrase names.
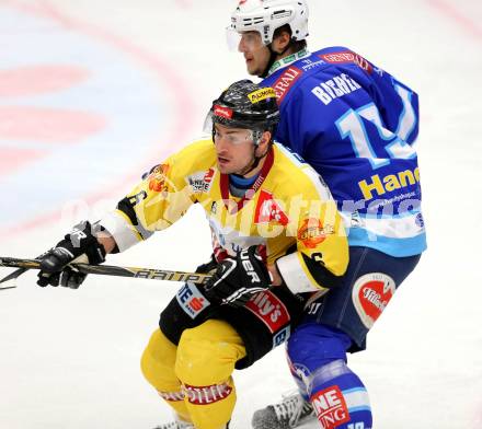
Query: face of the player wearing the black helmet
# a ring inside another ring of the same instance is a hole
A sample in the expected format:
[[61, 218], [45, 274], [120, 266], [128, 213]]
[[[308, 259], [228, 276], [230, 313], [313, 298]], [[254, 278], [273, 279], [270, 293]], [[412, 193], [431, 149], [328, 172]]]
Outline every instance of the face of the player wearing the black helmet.
[[223, 174], [243, 174], [254, 161], [253, 135], [249, 129], [215, 125], [218, 169]]

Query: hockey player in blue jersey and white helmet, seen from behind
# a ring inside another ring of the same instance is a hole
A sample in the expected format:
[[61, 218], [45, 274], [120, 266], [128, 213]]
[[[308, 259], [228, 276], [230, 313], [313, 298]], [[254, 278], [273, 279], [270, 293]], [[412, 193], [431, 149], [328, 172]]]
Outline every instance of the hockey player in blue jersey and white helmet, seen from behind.
[[426, 248], [413, 147], [417, 94], [346, 47], [310, 53], [306, 0], [241, 0], [228, 33], [249, 73], [275, 89], [276, 139], [322, 174], [351, 246], [343, 281], [312, 297], [288, 341], [299, 394], [256, 411], [253, 427], [318, 419], [324, 429], [369, 429], [368, 394], [346, 353], [365, 349], [368, 331]]

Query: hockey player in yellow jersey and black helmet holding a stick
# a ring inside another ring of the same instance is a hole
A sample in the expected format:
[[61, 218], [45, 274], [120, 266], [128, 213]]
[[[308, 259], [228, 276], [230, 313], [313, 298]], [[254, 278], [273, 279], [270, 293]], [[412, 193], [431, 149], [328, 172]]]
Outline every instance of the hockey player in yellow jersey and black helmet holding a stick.
[[283, 344], [313, 295], [335, 288], [348, 247], [321, 177], [273, 142], [274, 90], [239, 81], [210, 108], [211, 136], [154, 166], [101, 221], [81, 222], [42, 258], [41, 286], [79, 287], [68, 266], [124, 252], [180, 219], [206, 212], [214, 259], [206, 285], [185, 283], [162, 311], [141, 358], [148, 382], [175, 410], [161, 429], [227, 428], [234, 369]]

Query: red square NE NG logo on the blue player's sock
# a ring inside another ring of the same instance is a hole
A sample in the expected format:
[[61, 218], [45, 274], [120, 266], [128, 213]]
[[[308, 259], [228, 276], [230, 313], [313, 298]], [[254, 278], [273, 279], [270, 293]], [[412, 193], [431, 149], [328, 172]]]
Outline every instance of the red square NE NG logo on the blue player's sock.
[[345, 398], [338, 386], [330, 386], [310, 398], [323, 429], [334, 429], [349, 421]]

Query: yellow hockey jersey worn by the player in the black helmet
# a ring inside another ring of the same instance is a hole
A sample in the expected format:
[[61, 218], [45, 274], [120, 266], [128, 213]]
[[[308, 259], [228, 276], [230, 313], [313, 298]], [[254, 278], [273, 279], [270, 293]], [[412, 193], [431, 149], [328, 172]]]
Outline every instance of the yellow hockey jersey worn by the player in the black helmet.
[[153, 167], [101, 220], [120, 252], [179, 220], [200, 204], [221, 260], [259, 245], [294, 293], [336, 286], [348, 263], [348, 245], [331, 194], [313, 169], [274, 143], [243, 198], [229, 192], [217, 170], [210, 139], [200, 139]]

